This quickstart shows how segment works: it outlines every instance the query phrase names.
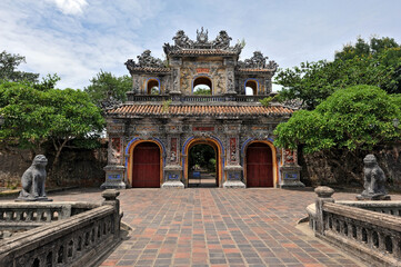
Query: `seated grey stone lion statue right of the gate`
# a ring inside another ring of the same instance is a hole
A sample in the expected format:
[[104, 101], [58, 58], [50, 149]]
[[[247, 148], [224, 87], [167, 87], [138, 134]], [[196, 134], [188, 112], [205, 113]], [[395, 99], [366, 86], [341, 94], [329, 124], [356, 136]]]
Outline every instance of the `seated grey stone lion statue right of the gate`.
[[363, 159], [364, 168], [364, 184], [361, 195], [357, 196], [358, 199], [383, 200], [390, 199], [385, 190], [385, 176], [384, 171], [379, 167], [374, 155], [369, 154]]

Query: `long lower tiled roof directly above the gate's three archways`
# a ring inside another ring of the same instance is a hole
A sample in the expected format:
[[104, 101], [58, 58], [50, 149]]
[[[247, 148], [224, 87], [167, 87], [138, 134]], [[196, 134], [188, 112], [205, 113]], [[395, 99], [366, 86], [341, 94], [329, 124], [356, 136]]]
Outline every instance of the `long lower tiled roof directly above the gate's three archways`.
[[108, 115], [120, 117], [131, 116], [288, 116], [292, 109], [280, 106], [173, 106], [168, 109], [163, 105], [124, 105], [119, 108], [108, 110]]

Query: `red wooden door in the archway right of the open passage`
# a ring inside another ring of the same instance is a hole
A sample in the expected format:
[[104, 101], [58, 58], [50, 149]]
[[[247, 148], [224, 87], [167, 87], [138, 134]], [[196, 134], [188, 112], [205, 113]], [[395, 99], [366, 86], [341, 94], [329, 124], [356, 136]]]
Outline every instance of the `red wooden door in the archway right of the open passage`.
[[247, 187], [273, 187], [273, 160], [268, 145], [251, 144], [247, 149]]

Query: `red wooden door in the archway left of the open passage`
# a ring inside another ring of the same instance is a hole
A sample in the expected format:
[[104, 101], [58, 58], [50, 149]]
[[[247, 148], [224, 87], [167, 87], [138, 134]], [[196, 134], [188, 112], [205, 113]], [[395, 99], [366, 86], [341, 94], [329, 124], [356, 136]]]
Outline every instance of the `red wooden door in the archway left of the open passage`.
[[160, 149], [153, 142], [141, 142], [132, 155], [132, 187], [160, 187]]

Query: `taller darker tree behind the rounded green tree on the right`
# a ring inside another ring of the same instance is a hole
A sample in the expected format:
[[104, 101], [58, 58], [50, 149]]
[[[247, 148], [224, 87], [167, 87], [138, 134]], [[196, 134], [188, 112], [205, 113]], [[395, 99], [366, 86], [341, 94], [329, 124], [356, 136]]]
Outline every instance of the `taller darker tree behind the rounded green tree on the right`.
[[334, 61], [302, 62], [280, 70], [275, 82], [283, 86], [279, 100], [300, 99], [314, 109], [338, 89], [357, 85], [379, 86], [390, 93], [401, 92], [401, 49], [390, 38], [359, 38], [335, 53]]

